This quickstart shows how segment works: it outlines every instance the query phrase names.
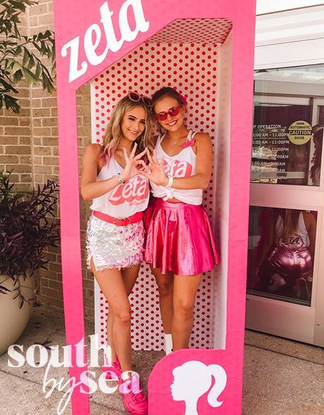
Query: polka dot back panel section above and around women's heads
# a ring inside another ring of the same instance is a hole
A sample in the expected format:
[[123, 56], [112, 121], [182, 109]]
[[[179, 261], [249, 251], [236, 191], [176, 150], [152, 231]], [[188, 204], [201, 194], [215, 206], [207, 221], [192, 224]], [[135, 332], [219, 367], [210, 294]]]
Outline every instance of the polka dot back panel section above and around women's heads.
[[216, 131], [217, 45], [146, 43], [94, 79], [94, 135], [102, 143], [110, 113], [129, 91], [151, 96], [171, 86], [188, 101], [186, 124]]

